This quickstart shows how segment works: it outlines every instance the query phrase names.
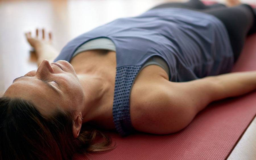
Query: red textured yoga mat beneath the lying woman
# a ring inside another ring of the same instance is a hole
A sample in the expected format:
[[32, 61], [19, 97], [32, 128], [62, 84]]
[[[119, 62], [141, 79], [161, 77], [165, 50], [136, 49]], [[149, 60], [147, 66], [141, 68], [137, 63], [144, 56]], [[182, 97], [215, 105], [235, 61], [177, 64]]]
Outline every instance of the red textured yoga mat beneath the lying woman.
[[[256, 70], [256, 34], [245, 42], [232, 72]], [[183, 130], [169, 135], [110, 134], [112, 151], [75, 155], [74, 159], [225, 159], [256, 114], [256, 92], [208, 105]]]

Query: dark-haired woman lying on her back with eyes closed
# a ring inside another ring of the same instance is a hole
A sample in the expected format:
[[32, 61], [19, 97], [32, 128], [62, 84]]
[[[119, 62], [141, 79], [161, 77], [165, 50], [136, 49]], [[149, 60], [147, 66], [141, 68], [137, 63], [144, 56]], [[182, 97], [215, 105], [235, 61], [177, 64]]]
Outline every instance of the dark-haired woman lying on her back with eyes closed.
[[256, 31], [255, 9], [227, 6], [165, 3], [94, 28], [60, 53], [44, 30], [26, 33], [39, 67], [0, 98], [1, 159], [113, 149], [100, 130], [172, 134], [212, 101], [255, 90], [256, 71], [229, 73]]

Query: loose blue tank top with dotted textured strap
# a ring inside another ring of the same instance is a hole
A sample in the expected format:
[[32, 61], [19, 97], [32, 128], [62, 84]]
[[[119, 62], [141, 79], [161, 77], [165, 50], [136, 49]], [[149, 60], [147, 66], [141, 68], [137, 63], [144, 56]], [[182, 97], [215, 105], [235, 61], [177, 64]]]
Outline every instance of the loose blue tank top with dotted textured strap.
[[173, 82], [228, 73], [234, 65], [223, 23], [210, 14], [181, 8], [152, 9], [113, 20], [71, 40], [54, 61], [70, 61], [79, 46], [100, 37], [116, 47], [113, 121], [121, 136], [135, 131], [129, 110], [131, 86], [150, 57], [166, 61]]

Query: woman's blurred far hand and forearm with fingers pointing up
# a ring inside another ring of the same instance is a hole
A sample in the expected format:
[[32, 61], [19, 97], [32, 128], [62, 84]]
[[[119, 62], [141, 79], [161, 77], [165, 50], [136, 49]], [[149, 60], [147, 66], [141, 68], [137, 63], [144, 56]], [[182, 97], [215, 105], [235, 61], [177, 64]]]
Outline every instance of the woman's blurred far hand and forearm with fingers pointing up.
[[[39, 33], [42, 32], [42, 33]], [[42, 35], [39, 37], [39, 34]], [[28, 43], [34, 48], [36, 54], [36, 63], [39, 66], [40, 63], [47, 59], [50, 62], [59, 55], [59, 52], [54, 49], [52, 46], [52, 34], [51, 32], [48, 33], [48, 38], [46, 38], [46, 34], [44, 29], [38, 30], [36, 29], [36, 36], [32, 37], [31, 32], [27, 32], [26, 38]]]

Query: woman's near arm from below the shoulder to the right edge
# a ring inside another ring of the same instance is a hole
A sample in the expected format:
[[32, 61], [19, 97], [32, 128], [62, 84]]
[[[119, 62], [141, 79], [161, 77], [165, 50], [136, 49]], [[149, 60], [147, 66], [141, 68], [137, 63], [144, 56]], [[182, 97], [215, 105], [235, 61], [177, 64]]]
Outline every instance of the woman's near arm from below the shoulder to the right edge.
[[[187, 103], [197, 106], [197, 111], [204, 109], [210, 102], [236, 97], [256, 89], [256, 71], [232, 72], [217, 76], [207, 76], [188, 82], [170, 82], [170, 96], [181, 92], [187, 96]], [[166, 91], [168, 92], [168, 91]]]

